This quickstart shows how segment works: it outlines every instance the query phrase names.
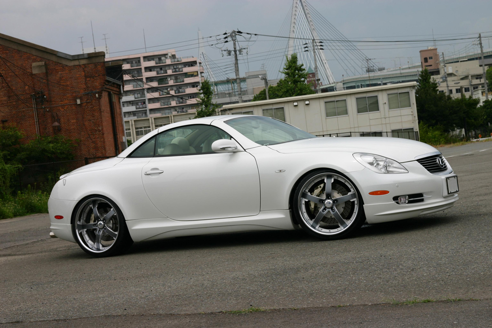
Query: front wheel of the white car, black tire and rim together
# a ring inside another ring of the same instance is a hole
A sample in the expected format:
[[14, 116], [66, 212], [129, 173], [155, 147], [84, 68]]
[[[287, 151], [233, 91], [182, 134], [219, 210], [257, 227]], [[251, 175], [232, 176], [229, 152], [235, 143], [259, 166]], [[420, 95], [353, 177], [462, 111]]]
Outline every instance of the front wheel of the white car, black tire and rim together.
[[[327, 184], [331, 192], [325, 192]], [[323, 169], [309, 173], [292, 198], [297, 222], [311, 236], [324, 240], [348, 237], [366, 221], [357, 187], [339, 172]]]

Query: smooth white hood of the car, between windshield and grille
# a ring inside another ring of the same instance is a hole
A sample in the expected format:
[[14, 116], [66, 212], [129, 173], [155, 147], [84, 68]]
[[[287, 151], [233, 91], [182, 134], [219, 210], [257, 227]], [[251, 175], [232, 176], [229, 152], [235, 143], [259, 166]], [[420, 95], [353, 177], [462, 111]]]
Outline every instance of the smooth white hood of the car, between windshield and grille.
[[367, 152], [391, 158], [400, 163], [413, 161], [416, 156], [437, 151], [432, 146], [418, 141], [385, 137], [312, 138], [268, 147], [282, 153], [313, 151]]

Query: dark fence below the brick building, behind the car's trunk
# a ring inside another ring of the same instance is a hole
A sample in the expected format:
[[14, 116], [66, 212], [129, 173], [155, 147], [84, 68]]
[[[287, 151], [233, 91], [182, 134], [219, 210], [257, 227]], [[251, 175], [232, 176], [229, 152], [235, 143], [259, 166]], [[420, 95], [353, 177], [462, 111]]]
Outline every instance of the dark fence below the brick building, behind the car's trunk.
[[17, 174], [16, 183], [13, 187], [16, 191], [22, 191], [28, 184], [36, 184], [37, 187], [47, 185], [48, 189], [50, 189], [60, 179], [61, 175], [78, 169], [81, 166], [111, 157], [113, 156], [85, 157], [70, 161], [23, 165]]

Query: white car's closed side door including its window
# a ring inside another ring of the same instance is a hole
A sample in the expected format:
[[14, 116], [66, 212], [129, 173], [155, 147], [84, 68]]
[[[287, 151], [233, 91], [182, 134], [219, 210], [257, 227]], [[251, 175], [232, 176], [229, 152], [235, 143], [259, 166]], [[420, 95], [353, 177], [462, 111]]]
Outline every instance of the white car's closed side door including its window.
[[[260, 181], [254, 157], [241, 149], [215, 153], [212, 143], [231, 139], [221, 129], [186, 125], [155, 137], [154, 157], [142, 169], [147, 196], [174, 220], [256, 215]], [[239, 144], [238, 144], [238, 147]]]

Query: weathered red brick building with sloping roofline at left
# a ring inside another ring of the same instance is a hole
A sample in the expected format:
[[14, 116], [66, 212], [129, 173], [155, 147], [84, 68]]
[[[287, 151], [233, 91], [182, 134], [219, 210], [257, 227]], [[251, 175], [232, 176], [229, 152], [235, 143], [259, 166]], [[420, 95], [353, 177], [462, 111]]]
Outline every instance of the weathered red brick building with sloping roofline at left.
[[67, 55], [0, 34], [0, 119], [25, 141], [62, 134], [80, 140], [75, 158], [126, 148], [120, 107], [122, 62], [104, 52]]

